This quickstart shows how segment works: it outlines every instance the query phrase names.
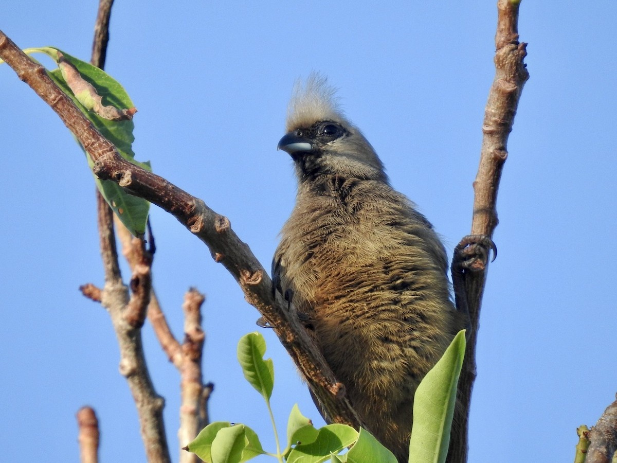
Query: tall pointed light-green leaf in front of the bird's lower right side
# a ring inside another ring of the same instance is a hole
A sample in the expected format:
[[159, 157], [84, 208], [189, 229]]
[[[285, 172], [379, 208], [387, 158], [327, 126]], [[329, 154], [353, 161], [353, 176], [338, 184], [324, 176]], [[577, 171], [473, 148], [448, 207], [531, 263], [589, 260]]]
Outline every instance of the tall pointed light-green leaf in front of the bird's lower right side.
[[418, 386], [413, 399], [410, 463], [445, 462], [464, 356], [465, 330], [462, 330]]

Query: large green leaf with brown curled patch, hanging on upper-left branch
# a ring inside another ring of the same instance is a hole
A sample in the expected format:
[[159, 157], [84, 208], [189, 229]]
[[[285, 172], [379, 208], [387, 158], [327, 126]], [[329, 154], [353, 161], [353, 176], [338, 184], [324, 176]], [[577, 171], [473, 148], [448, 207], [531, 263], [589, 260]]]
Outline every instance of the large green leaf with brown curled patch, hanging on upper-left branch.
[[[43, 48], [30, 48], [25, 50], [27, 53], [42, 52], [50, 56], [56, 62], [59, 62], [62, 58], [68, 63], [73, 65], [79, 72], [81, 77], [88, 81], [96, 89], [96, 93], [102, 97], [104, 104], [113, 106], [118, 110], [134, 109], [133, 102], [129, 98], [128, 94], [122, 88], [114, 78], [103, 70], [93, 66], [87, 62], [77, 59], [70, 54], [61, 51], [57, 48], [43, 47]], [[83, 114], [93, 123], [94, 127], [101, 132], [101, 134], [107, 138], [111, 143], [115, 145], [126, 161], [132, 164], [138, 165], [143, 169], [152, 171], [149, 162], [138, 162], [133, 159], [135, 153], [132, 149], [132, 143], [135, 140], [133, 136], [133, 129], [135, 125], [130, 119], [125, 120], [109, 120], [101, 117], [96, 112], [90, 111], [89, 101], [87, 98], [77, 98], [72, 90], [67, 85], [67, 81], [62, 75], [60, 69], [52, 70], [48, 72], [49, 77], [56, 82], [56, 84], [75, 102], [78, 108], [81, 109]], [[86, 104], [88, 107], [84, 106]], [[81, 146], [81, 144], [80, 144]], [[83, 146], [81, 146], [83, 149]], [[93, 161], [86, 152], [88, 158], [88, 165], [92, 168]], [[145, 199], [137, 198], [126, 193], [117, 183], [110, 180], [99, 180], [94, 177], [97, 188], [101, 191], [101, 194], [106, 199], [107, 203], [112, 207], [115, 214], [118, 216], [122, 223], [133, 233], [133, 235], [143, 235], [146, 230], [146, 220], [150, 204]]]

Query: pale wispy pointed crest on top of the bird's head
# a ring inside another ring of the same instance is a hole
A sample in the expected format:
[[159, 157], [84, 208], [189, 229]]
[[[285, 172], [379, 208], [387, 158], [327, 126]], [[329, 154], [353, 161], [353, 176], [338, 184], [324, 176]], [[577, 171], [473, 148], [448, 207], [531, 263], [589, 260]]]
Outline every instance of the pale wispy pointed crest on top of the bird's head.
[[312, 125], [318, 120], [344, 120], [344, 113], [336, 97], [336, 88], [328, 79], [312, 72], [303, 83], [297, 80], [287, 110], [287, 131]]

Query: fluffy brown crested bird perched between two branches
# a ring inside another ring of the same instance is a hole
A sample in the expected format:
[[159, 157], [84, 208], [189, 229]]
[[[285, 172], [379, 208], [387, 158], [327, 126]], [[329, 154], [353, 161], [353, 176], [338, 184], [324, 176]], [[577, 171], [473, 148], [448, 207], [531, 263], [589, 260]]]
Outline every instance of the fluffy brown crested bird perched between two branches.
[[413, 394], [465, 328], [444, 245], [392, 188], [320, 73], [296, 83], [278, 149], [291, 156], [297, 194], [273, 258], [273, 288], [295, 308], [368, 430], [407, 462]]

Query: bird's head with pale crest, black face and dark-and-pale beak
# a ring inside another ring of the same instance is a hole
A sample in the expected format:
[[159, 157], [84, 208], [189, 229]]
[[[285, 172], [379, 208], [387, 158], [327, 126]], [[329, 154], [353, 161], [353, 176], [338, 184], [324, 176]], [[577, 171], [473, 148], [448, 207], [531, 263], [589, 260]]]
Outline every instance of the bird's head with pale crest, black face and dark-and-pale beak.
[[386, 181], [383, 164], [362, 132], [343, 114], [326, 78], [312, 73], [289, 102], [286, 135], [278, 149], [296, 164], [300, 182], [320, 175]]

